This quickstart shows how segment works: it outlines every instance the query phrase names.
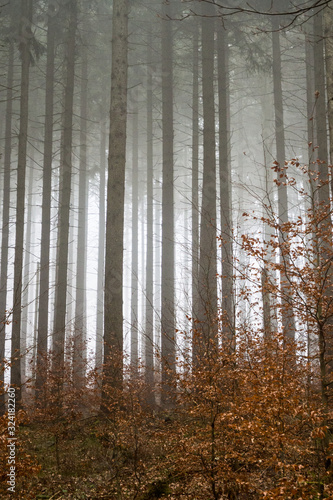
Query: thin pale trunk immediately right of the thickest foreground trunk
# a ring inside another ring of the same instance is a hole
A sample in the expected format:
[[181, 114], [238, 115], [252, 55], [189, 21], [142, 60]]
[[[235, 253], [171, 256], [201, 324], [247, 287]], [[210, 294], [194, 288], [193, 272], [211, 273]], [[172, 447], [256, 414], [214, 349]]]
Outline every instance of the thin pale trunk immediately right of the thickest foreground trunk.
[[138, 368], [138, 287], [139, 287], [139, 110], [138, 93], [133, 95], [132, 110], [132, 274], [131, 274], [131, 364], [134, 371]]

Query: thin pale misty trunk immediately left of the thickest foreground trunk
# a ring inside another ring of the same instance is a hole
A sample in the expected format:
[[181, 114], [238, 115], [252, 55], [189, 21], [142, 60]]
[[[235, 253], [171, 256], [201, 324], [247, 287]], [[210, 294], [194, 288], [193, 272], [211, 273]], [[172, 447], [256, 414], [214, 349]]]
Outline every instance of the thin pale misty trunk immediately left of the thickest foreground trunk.
[[98, 222], [98, 271], [97, 271], [97, 319], [96, 319], [96, 368], [100, 372], [103, 363], [103, 297], [105, 257], [105, 178], [106, 178], [106, 123], [101, 121], [100, 177], [99, 177], [99, 222]]

